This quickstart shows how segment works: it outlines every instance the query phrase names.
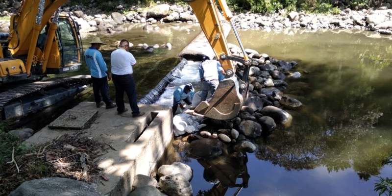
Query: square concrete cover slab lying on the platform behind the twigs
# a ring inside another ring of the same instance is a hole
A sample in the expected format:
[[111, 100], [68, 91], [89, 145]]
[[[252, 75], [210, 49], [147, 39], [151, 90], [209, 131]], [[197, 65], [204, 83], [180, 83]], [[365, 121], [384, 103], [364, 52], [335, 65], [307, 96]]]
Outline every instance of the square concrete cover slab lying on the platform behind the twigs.
[[84, 129], [94, 121], [98, 114], [95, 110], [67, 110], [48, 127], [51, 129]]

